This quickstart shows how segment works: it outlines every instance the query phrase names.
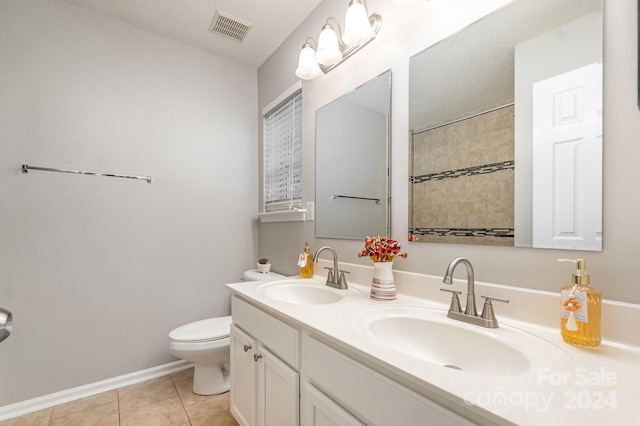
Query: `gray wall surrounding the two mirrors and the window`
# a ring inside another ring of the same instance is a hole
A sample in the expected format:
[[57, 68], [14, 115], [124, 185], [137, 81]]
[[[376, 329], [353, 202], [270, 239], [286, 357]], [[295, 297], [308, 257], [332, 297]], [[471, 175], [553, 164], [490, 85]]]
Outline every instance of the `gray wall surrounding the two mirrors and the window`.
[[[519, 287], [557, 291], [571, 269], [556, 263], [559, 257], [583, 257], [591, 282], [607, 299], [640, 303], [635, 285], [640, 227], [640, 185], [636, 165], [640, 157], [640, 112], [637, 106], [637, 12], [635, 0], [605, 0], [604, 64], [604, 244], [600, 253], [484, 247], [475, 245], [411, 243], [408, 229], [408, 65], [409, 57], [457, 31], [505, 0], [477, 2], [450, 0], [420, 2], [399, 8], [390, 1], [370, 0], [369, 11], [383, 17], [375, 41], [329, 74], [303, 83], [304, 194], [314, 199], [314, 112], [349, 89], [386, 69], [392, 70], [392, 236], [409, 253], [395, 267], [442, 275], [456, 256], [468, 257], [476, 279]], [[325, 0], [258, 70], [259, 104], [265, 105], [295, 81], [293, 71], [306, 36], [317, 37], [323, 21], [344, 21], [345, 4]], [[437, 66], [437, 64], [434, 64]], [[286, 235], [285, 237], [282, 237]], [[305, 240], [313, 249], [329, 244], [346, 262], [358, 259], [360, 241], [315, 239], [313, 222], [260, 224], [260, 253], [283, 272], [296, 273], [297, 253]]]

